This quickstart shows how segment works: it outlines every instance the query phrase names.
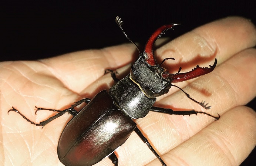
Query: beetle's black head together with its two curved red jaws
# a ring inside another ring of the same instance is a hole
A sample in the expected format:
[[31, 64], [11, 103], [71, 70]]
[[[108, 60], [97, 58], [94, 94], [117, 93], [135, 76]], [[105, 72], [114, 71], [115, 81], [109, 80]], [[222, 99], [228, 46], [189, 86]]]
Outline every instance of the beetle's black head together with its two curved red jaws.
[[171, 83], [199, 77], [213, 71], [216, 67], [217, 60], [215, 59], [214, 64], [212, 66], [210, 65], [210, 68], [201, 68], [197, 65], [196, 68], [189, 72], [170, 74], [165, 72], [165, 69], [161, 68], [160, 65], [156, 64], [153, 50], [156, 39], [163, 34], [165, 30], [171, 29], [176, 25], [178, 24], [170, 24], [158, 28], [146, 43], [144, 52], [139, 54], [138, 60], [136, 60], [131, 67], [130, 79], [134, 81], [149, 98], [155, 98], [168, 93], [172, 85]]

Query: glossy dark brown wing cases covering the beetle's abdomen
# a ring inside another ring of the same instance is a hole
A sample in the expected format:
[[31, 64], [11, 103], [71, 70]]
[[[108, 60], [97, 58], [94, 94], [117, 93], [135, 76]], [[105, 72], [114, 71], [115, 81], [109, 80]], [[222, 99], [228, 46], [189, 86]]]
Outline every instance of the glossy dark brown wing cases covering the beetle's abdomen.
[[65, 126], [58, 157], [65, 166], [94, 165], [121, 146], [135, 127], [107, 91], [101, 91]]

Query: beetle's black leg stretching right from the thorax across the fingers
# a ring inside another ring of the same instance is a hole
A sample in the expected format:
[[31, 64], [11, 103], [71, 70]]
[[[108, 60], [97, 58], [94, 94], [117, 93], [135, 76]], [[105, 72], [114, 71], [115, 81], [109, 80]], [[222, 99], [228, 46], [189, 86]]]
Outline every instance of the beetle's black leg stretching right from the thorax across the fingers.
[[217, 116], [213, 116], [213, 115], [210, 115], [206, 112], [201, 112], [201, 111], [195, 111], [195, 110], [173, 111], [172, 109], [169, 109], [169, 108], [161, 108], [161, 107], [156, 107], [156, 106], [152, 106], [150, 111], [161, 112], [161, 113], [169, 114], [169, 115], [192, 115], [192, 114], [195, 114], [197, 116], [197, 114], [205, 114], [205, 115], [208, 115], [208, 116], [211, 116], [211, 117], [215, 118], [216, 120], [218, 120], [220, 118], [219, 114], [218, 114], [218, 117], [217, 117]]

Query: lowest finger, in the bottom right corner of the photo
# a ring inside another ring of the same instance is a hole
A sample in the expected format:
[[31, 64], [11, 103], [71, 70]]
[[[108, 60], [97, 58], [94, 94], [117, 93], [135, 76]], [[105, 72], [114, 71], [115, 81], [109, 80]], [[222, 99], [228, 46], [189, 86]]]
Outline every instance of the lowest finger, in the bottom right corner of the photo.
[[[239, 106], [162, 158], [172, 166], [240, 165], [256, 145], [256, 113]], [[156, 165], [154, 160], [149, 165]]]

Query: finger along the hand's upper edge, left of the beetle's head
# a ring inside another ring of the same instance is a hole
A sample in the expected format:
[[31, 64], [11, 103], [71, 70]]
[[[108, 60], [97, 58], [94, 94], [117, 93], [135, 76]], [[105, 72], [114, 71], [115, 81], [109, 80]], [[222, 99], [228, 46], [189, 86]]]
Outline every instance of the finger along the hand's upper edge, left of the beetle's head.
[[131, 62], [134, 52], [137, 51], [133, 44], [122, 44], [101, 50], [72, 52], [41, 62], [46, 64], [67, 88], [80, 93], [104, 75], [105, 69], [116, 69]]

